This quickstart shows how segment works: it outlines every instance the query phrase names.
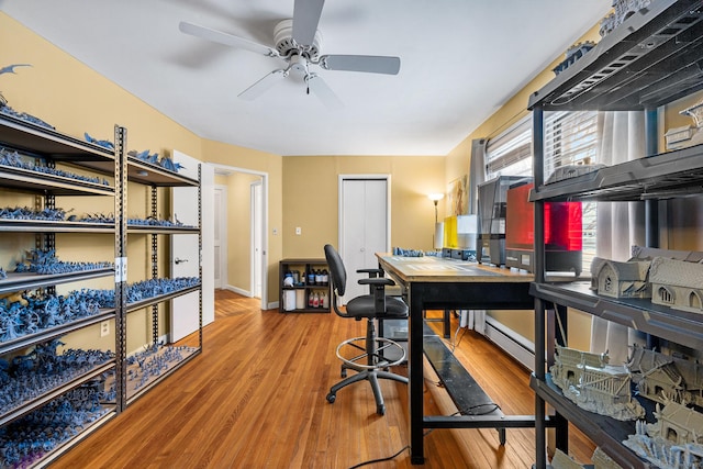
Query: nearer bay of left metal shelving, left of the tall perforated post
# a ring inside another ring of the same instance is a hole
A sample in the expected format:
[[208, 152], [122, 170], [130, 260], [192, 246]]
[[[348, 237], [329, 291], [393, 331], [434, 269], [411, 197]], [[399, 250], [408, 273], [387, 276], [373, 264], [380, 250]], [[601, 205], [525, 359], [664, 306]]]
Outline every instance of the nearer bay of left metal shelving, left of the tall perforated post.
[[[57, 160], [82, 169], [87, 168], [87, 166], [82, 166], [82, 161], [90, 161], [90, 164], [100, 161], [105, 167], [111, 168], [110, 171], [105, 171], [105, 175], [114, 175], [116, 168], [115, 154], [111, 150], [4, 114], [0, 114], [0, 145], [8, 148], [8, 152], [19, 150], [29, 158], [42, 158], [49, 168], [54, 167]], [[9, 194], [33, 196], [36, 208], [54, 209], [57, 196], [115, 198], [115, 189], [104, 183], [7, 165], [0, 165], [0, 187], [7, 190]], [[0, 221], [0, 233], [4, 234], [4, 236], [16, 234], [18, 238], [26, 238], [27, 235], [33, 234], [36, 248], [51, 249], [56, 247], [56, 233], [114, 235], [115, 227], [113, 224], [3, 219]], [[55, 292], [57, 284], [112, 277], [114, 275], [115, 269], [112, 267], [56, 275], [9, 272], [5, 278], [0, 279], [0, 293], [8, 294], [37, 289], [52, 293]], [[116, 320], [118, 315], [118, 309], [103, 309], [90, 316], [5, 339], [0, 343], [0, 355], [15, 356], [22, 350], [46, 344], [65, 334], [94, 326], [103, 321]], [[33, 393], [30, 393], [32, 395], [31, 399], [13, 402], [16, 405], [5, 406], [5, 411], [0, 414], [0, 426], [12, 424], [18, 418], [37, 411], [55, 399], [92, 382], [104, 373], [116, 372], [121, 362], [122, 356], [119, 353], [118, 344], [115, 344], [114, 358], [108, 359], [100, 365], [88, 367], [75, 376], [69, 373], [64, 377], [56, 377], [52, 386], [36, 389]], [[105, 411], [104, 415], [99, 417], [98, 423], [87, 424], [83, 429], [87, 431], [88, 427], [94, 428], [99, 423], [114, 417], [120, 410], [120, 402], [105, 403], [102, 407]], [[68, 450], [85, 435], [83, 431], [79, 432], [75, 437], [60, 443], [33, 465], [44, 466], [48, 464]]]

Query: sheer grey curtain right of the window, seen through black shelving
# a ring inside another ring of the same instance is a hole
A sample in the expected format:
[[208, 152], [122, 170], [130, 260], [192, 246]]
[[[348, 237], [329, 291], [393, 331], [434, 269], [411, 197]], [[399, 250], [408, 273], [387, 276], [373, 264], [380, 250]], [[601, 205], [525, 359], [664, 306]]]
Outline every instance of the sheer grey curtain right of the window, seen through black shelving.
[[[599, 163], [617, 165], [645, 156], [645, 115], [643, 112], [602, 112], [598, 122]], [[645, 245], [644, 202], [599, 202], [596, 208], [596, 245], [599, 257], [613, 260], [631, 258], [633, 245]], [[644, 344], [636, 331], [593, 316], [591, 351], [609, 353], [612, 365], [628, 357], [628, 345]]]

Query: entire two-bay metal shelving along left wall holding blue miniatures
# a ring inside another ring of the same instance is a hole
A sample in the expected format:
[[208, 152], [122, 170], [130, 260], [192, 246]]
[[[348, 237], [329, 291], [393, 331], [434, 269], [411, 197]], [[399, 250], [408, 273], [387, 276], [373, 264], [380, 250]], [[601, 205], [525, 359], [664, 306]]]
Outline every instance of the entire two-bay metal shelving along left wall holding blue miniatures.
[[[127, 303], [127, 235], [152, 236], [150, 259], [153, 263], [153, 278], [158, 272], [159, 261], [158, 236], [172, 234], [198, 234], [199, 247], [202, 250], [201, 226], [201, 188], [200, 169], [198, 178], [189, 178], [178, 175], [175, 171], [166, 170], [156, 165], [142, 161], [126, 155], [126, 129], [115, 125], [114, 127], [114, 150], [83, 142], [79, 138], [64, 135], [55, 130], [46, 129], [30, 122], [15, 119], [0, 113], [0, 146], [9, 150], [18, 150], [29, 158], [42, 158], [49, 167], [56, 163], [70, 167], [99, 172], [108, 177], [114, 177], [114, 185], [96, 183], [68, 177], [56, 176], [34, 171], [32, 169], [19, 168], [14, 166], [0, 165], [0, 188], [7, 189], [10, 193], [25, 194], [34, 197], [37, 206], [55, 208], [57, 196], [71, 197], [94, 197], [104, 196], [114, 199], [114, 220], [108, 223], [87, 223], [70, 221], [42, 221], [42, 220], [0, 220], [0, 234], [8, 236], [35, 236], [34, 244], [37, 248], [47, 249], [56, 247], [55, 235], [57, 233], [83, 234], [105, 234], [114, 236], [114, 268], [101, 268], [88, 271], [77, 271], [57, 275], [37, 275], [30, 272], [10, 272], [5, 278], [0, 279], [0, 293], [12, 293], [22, 290], [45, 289], [55, 291], [55, 286], [94, 279], [100, 277], [114, 277], [115, 308], [100, 310], [99, 313], [81, 317], [58, 326], [48, 327], [35, 333], [26, 334], [16, 338], [11, 338], [0, 343], [0, 355], [16, 354], [20, 350], [48, 340], [58, 338], [65, 334], [76, 332], [89, 326], [114, 320], [115, 327], [115, 357], [105, 364], [93, 367], [77, 377], [65, 380], [53, 389], [44, 390], [36, 394], [29, 402], [18, 402], [10, 411], [0, 413], [0, 426], [10, 424], [23, 415], [52, 402], [69, 392], [70, 390], [94, 380], [97, 377], [109, 372], [114, 373], [116, 399], [115, 402], [105, 406], [108, 412], [98, 421], [87, 424], [83, 431], [70, 440], [62, 443], [54, 450], [34, 461], [33, 466], [45, 466], [58, 458], [63, 453], [70, 449], [80, 442], [87, 434], [94, 431], [104, 422], [122, 412], [131, 401], [142, 395], [156, 383], [160, 382], [172, 371], [180, 368], [185, 362], [199, 355], [202, 350], [202, 284], [182, 288], [157, 297], [144, 299], [133, 303]], [[152, 190], [152, 215], [157, 214], [157, 188], [170, 187], [197, 187], [198, 188], [198, 226], [143, 226], [127, 224], [127, 182], [136, 182], [150, 187]], [[91, 238], [92, 239], [92, 238]], [[202, 278], [202, 267], [199, 269]], [[129, 313], [137, 309], [153, 308], [153, 334], [154, 342], [157, 340], [158, 328], [158, 304], [169, 301], [182, 294], [199, 292], [200, 295], [200, 322], [199, 322], [199, 345], [194, 353], [177, 364], [169, 370], [163, 372], [157, 379], [142, 387], [138, 392], [127, 395], [127, 350], [126, 350], [126, 321]]]

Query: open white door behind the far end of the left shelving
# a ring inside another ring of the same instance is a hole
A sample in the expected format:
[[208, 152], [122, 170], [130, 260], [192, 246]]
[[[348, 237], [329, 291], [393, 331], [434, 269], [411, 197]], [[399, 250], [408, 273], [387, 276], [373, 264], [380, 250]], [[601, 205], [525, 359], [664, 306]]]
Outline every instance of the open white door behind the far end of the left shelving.
[[[179, 171], [197, 179], [199, 160], [174, 150]], [[198, 250], [198, 235], [171, 235], [171, 278], [197, 277], [202, 263], [202, 320], [203, 325], [214, 321], [214, 168], [201, 164], [201, 236], [202, 253]], [[198, 225], [198, 188], [171, 190], [171, 206], [180, 222]], [[198, 331], [199, 297], [192, 292], [171, 300], [169, 342], [176, 342]]]

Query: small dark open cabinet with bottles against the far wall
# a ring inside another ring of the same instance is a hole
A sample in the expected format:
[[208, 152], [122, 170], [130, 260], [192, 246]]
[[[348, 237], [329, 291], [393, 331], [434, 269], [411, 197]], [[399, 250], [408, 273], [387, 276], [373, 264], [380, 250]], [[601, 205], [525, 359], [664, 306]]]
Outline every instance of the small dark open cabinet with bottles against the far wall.
[[[278, 267], [281, 313], [328, 313], [332, 301], [325, 259], [282, 259]], [[290, 280], [287, 280], [290, 277]]]

